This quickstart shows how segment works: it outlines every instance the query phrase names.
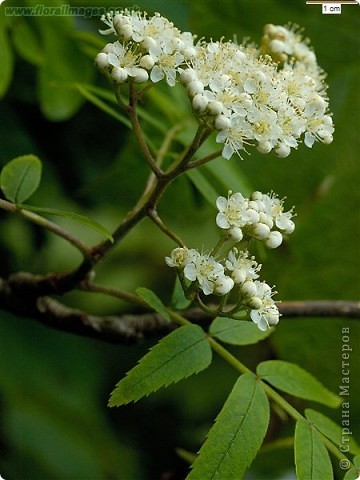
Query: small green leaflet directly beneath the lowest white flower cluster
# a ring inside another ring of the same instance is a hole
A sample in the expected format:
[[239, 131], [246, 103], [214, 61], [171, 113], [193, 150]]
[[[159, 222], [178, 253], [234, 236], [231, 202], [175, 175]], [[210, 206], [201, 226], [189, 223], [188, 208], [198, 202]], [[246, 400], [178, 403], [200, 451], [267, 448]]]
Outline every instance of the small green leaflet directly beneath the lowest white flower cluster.
[[210, 333], [231, 345], [251, 345], [268, 337], [272, 331], [268, 329], [263, 332], [250, 321], [217, 317], [210, 325]]

